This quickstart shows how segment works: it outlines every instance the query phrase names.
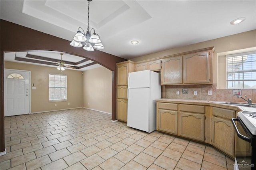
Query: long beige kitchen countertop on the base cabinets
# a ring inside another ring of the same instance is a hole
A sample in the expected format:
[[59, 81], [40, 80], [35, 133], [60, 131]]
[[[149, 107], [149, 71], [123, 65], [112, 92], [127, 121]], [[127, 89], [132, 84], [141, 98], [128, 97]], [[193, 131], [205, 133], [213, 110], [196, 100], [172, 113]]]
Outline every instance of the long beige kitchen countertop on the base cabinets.
[[[178, 104], [189, 104], [189, 105], [205, 105], [205, 106], [214, 106], [221, 107], [225, 109], [233, 109], [236, 111], [248, 111], [248, 112], [256, 112], [256, 107], [244, 107], [244, 106], [234, 106], [234, 105], [226, 105], [220, 103], [212, 103], [214, 101], [208, 100], [192, 100], [192, 99], [158, 99], [157, 102], [166, 102], [166, 103], [178, 103]], [[245, 103], [247, 104], [247, 103]]]

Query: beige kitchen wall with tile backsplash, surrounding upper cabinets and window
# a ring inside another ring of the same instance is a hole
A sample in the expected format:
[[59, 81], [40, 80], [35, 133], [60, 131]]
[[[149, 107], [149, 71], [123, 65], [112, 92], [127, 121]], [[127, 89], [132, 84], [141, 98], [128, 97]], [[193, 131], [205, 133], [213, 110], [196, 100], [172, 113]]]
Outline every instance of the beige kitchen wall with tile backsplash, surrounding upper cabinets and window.
[[[198, 100], [218, 100], [218, 101], [240, 101], [236, 96], [232, 95], [232, 89], [226, 88], [226, 60], [224, 55], [232, 53], [240, 53], [246, 51], [252, 51], [256, 48], [256, 30], [235, 34], [232, 36], [226, 36], [206, 42], [195, 43], [184, 47], [178, 47], [174, 49], [168, 49], [166, 51], [160, 51], [158, 53], [152, 53], [144, 55], [134, 59], [132, 61], [143, 61], [146, 59], [154, 59], [159, 57], [166, 57], [168, 55], [174, 55], [183, 53], [186, 51], [193, 51], [196, 49], [202, 49], [206, 47], [214, 47], [215, 52], [213, 55], [213, 85], [169, 85], [165, 86], [164, 94], [162, 97], [174, 98], [174, 99], [198, 99]], [[222, 81], [219, 81], [222, 80]], [[220, 84], [219, 84], [220, 82]], [[182, 94], [182, 89], [188, 89], [188, 94]], [[180, 95], [176, 95], [176, 91], [180, 91]], [[212, 95], [208, 95], [208, 90], [212, 91]], [[197, 91], [198, 95], [194, 95], [193, 91]], [[248, 95], [252, 98], [252, 101], [256, 103], [256, 89], [242, 89], [242, 95]]]

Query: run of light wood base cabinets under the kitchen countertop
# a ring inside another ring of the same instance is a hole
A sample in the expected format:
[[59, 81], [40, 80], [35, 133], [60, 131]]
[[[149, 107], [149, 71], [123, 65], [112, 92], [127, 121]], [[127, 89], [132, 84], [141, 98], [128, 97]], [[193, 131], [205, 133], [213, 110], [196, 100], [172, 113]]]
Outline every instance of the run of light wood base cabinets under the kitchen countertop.
[[235, 116], [235, 110], [221, 107], [157, 102], [156, 130], [209, 143], [234, 158], [236, 145], [248, 148], [240, 154], [250, 154], [250, 145], [247, 146], [246, 142], [235, 145], [235, 130], [231, 122]]

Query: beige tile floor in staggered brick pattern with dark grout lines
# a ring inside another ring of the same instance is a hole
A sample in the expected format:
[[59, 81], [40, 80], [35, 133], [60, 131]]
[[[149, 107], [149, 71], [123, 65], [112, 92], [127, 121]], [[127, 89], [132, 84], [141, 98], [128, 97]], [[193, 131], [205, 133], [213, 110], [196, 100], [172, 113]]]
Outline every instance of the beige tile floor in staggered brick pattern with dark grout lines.
[[5, 117], [12, 170], [227, 170], [233, 160], [210, 146], [111, 122], [111, 115], [71, 109]]

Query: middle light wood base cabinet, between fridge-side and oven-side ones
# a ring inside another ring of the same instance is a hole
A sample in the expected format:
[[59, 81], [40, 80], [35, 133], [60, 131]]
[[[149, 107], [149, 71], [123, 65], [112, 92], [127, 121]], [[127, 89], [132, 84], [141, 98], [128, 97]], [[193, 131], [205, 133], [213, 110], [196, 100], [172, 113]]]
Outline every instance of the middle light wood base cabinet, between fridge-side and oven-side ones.
[[205, 106], [179, 105], [179, 135], [200, 141], [205, 140]]

